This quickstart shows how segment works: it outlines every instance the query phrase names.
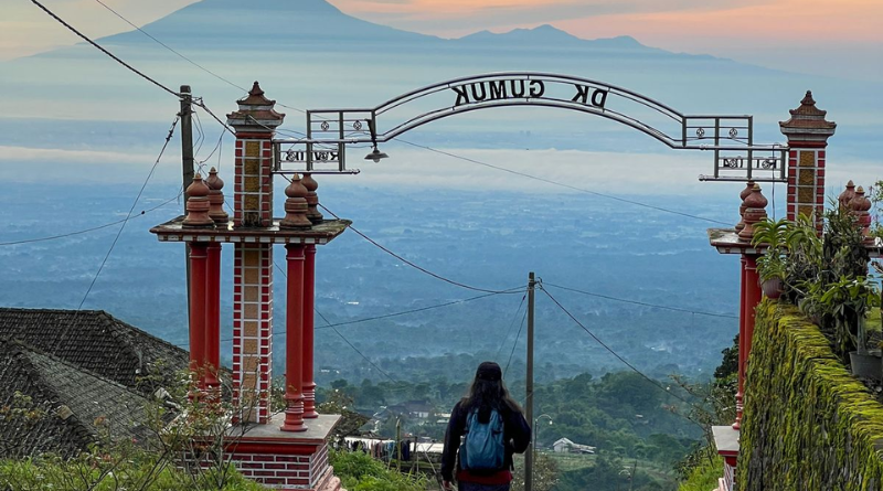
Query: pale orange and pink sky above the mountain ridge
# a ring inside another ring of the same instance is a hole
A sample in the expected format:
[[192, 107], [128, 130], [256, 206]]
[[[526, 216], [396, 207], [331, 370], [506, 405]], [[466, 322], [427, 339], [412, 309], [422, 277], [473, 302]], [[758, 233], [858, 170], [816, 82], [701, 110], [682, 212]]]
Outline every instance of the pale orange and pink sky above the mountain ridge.
[[[32, 2], [2, 1], [0, 61], [78, 41]], [[102, 1], [139, 25], [192, 3]], [[549, 23], [584, 39], [631, 35], [674, 52], [712, 54], [796, 73], [883, 81], [880, 0], [330, 1], [360, 19], [444, 38]], [[131, 29], [98, 0], [44, 0], [44, 4], [93, 38]]]

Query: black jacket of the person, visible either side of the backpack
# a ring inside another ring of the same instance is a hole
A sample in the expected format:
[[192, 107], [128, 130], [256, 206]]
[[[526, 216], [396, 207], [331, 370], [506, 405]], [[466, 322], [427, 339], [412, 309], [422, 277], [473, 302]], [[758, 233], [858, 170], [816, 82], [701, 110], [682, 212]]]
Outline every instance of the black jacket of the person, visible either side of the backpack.
[[[445, 450], [442, 452], [442, 479], [451, 481], [456, 472], [457, 450], [460, 448], [460, 437], [466, 433], [466, 417], [469, 412], [461, 407], [462, 402], [454, 406], [445, 431]], [[506, 468], [512, 468], [512, 453], [522, 453], [531, 442], [531, 427], [524, 415], [518, 410], [504, 408], [500, 412], [503, 418], [503, 442], [506, 445]]]

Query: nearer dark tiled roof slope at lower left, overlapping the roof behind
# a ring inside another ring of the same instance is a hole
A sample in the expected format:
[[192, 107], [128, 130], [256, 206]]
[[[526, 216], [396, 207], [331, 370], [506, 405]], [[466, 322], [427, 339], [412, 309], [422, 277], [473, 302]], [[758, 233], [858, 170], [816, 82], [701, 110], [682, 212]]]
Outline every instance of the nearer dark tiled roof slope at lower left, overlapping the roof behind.
[[103, 435], [139, 438], [147, 402], [99, 374], [0, 338], [0, 457], [70, 456]]

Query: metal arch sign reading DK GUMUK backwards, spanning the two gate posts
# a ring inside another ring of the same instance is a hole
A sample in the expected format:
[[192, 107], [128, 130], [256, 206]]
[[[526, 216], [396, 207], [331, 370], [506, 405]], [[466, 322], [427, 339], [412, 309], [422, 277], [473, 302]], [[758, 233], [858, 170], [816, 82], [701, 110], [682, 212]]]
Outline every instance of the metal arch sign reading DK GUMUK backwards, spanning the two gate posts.
[[[428, 107], [427, 107], [428, 106]], [[307, 137], [274, 140], [279, 173], [358, 173], [347, 168], [347, 146], [376, 148], [438, 119], [497, 107], [552, 107], [600, 116], [635, 128], [675, 150], [714, 154], [709, 181], [784, 182], [787, 146], [756, 145], [754, 117], [684, 115], [660, 102], [615, 85], [570, 75], [507, 72], [476, 75], [422, 87], [373, 108], [311, 109]]]

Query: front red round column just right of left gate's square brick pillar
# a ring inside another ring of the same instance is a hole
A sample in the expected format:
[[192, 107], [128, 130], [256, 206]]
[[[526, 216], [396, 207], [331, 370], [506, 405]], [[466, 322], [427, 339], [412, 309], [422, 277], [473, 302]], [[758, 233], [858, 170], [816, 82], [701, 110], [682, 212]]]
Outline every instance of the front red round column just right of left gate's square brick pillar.
[[306, 431], [304, 425], [304, 244], [288, 244], [285, 333], [285, 423], [283, 431]]

